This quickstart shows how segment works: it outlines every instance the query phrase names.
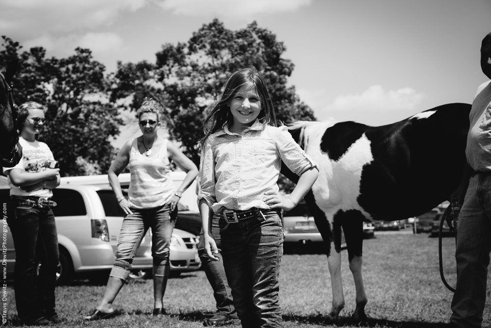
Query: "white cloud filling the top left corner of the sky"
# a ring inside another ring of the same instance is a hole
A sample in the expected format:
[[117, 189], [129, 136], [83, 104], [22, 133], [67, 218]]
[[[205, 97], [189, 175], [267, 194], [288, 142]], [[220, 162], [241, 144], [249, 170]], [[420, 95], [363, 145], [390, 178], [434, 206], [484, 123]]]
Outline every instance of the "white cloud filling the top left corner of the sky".
[[120, 11], [135, 11], [150, 0], [0, 0], [2, 34], [26, 38], [110, 25]]

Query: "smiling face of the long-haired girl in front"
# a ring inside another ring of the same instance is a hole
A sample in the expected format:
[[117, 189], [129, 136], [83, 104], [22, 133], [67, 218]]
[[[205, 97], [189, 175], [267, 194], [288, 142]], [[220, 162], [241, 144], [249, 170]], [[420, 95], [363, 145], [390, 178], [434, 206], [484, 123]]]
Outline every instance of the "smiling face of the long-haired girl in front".
[[253, 85], [242, 86], [228, 104], [234, 117], [232, 127], [242, 131], [250, 127], [261, 112], [261, 98]]

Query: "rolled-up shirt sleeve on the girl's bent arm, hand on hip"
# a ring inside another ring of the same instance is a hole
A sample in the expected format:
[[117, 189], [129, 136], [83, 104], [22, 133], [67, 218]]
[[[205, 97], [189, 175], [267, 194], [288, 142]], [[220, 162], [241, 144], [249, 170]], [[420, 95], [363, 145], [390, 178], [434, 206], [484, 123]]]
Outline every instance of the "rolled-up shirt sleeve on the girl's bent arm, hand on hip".
[[301, 176], [313, 167], [319, 170], [317, 164], [295, 142], [286, 126], [278, 128], [275, 141], [281, 160], [296, 175]]

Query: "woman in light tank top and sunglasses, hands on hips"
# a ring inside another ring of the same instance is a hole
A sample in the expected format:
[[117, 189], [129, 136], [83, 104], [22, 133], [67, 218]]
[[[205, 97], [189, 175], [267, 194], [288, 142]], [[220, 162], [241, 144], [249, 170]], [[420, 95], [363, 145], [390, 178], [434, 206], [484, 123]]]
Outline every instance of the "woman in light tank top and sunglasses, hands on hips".
[[[108, 318], [114, 314], [112, 302], [123, 287], [133, 258], [148, 228], [152, 229], [154, 282], [153, 315], [166, 314], [162, 299], [169, 274], [169, 246], [177, 218], [177, 202], [198, 175], [194, 163], [167, 139], [157, 135], [161, 106], [145, 99], [137, 112], [142, 136], [129, 140], [109, 168], [109, 182], [126, 217], [121, 226], [116, 261], [109, 275], [104, 296], [85, 320]], [[179, 188], [170, 179], [169, 157], [187, 173]], [[121, 191], [118, 175], [129, 167], [129, 199]]]

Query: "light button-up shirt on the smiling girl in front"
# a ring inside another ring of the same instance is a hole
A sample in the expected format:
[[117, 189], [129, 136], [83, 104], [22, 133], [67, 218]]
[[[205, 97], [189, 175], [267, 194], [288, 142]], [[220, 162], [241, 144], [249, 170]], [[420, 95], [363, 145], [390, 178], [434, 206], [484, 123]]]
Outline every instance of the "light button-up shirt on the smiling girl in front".
[[301, 175], [317, 165], [295, 142], [286, 126], [262, 126], [257, 120], [242, 134], [228, 127], [210, 135], [201, 153], [199, 200], [221, 209], [269, 209], [267, 190], [278, 191], [281, 161]]

